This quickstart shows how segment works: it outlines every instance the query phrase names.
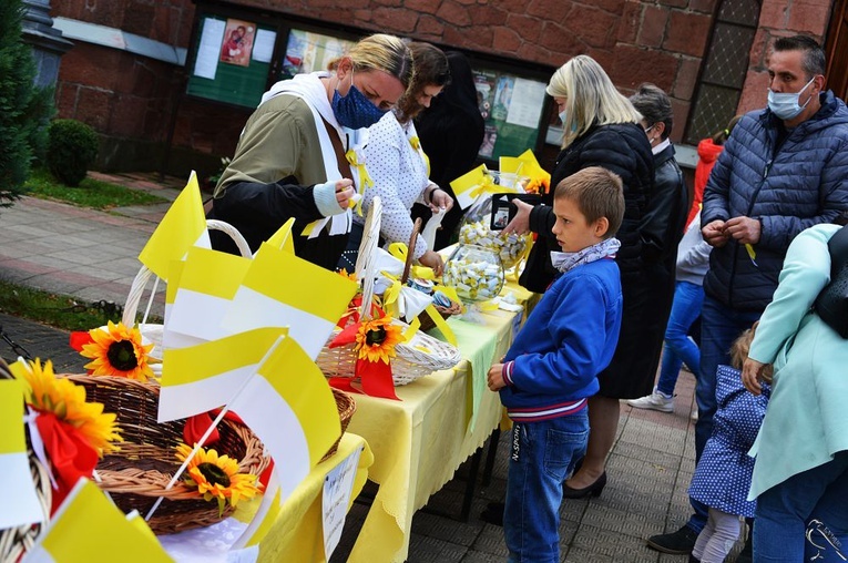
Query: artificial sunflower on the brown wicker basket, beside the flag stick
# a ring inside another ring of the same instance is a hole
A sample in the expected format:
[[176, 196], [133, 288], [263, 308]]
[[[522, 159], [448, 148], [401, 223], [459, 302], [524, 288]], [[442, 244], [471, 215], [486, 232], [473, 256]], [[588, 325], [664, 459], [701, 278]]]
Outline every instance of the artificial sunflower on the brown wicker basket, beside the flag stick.
[[[176, 447], [176, 459], [180, 461], [185, 461], [191, 453], [191, 446], [181, 443]], [[218, 455], [215, 450], [198, 449], [185, 473], [185, 482], [196, 487], [204, 500], [217, 499], [221, 514], [227, 503], [235, 506], [241, 499], [253, 499], [259, 492], [256, 475], [239, 473], [236, 460], [229, 455]]]

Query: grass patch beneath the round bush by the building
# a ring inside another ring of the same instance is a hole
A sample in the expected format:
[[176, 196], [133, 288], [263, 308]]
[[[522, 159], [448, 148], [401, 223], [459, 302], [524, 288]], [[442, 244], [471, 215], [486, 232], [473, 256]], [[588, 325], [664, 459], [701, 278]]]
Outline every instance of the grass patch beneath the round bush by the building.
[[157, 195], [92, 178], [83, 180], [78, 187], [69, 187], [54, 178], [45, 168], [33, 168], [23, 187], [28, 191], [27, 195], [42, 199], [58, 199], [94, 209], [167, 202]]

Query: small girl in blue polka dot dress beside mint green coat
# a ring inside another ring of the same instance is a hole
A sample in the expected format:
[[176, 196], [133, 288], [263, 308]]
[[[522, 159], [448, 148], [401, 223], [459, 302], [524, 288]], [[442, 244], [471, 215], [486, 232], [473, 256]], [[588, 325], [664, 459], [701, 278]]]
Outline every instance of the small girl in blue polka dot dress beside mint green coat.
[[739, 373], [756, 326], [743, 332], [730, 349], [736, 369], [718, 366], [716, 372], [718, 410], [713, 434], [704, 446], [689, 484], [689, 497], [706, 504], [709, 512], [691, 562], [722, 563], [739, 538], [739, 516], [754, 518], [756, 501], [747, 500], [754, 472], [754, 458], [748, 450], [759, 432], [772, 395], [767, 383], [763, 385], [760, 396], [749, 393]]

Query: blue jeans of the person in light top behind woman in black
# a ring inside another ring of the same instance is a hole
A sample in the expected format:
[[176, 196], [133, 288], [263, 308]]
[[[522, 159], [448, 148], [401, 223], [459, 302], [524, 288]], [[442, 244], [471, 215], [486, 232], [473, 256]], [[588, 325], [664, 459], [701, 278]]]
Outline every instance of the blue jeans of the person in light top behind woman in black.
[[703, 303], [704, 288], [702, 286], [689, 282], [675, 284], [672, 313], [665, 328], [663, 362], [660, 368], [660, 379], [656, 381], [657, 391], [666, 396], [674, 395], [674, 386], [677, 385], [677, 376], [681, 373], [681, 366], [684, 361], [695, 373], [695, 378], [698, 378], [701, 351], [687, 335], [689, 327], [701, 315]]

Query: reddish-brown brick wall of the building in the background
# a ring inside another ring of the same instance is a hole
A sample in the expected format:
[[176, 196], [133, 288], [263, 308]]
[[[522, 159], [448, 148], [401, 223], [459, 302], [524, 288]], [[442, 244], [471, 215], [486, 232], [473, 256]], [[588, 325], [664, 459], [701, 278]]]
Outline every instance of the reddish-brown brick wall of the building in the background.
[[[585, 53], [624, 94], [641, 82], [670, 93], [683, 133], [719, 0], [242, 0], [234, 4], [413, 37], [457, 48], [559, 66]], [[733, 1], [733, 0], [726, 0]], [[831, 0], [764, 0], [740, 110], [764, 105], [765, 45], [776, 34], [824, 35]], [[61, 4], [61, 6], [60, 6]], [[64, 16], [187, 47], [190, 0], [68, 0]], [[171, 113], [185, 89], [184, 70], [102, 47], [78, 44], [62, 60], [60, 115], [94, 125], [114, 139], [162, 147]], [[181, 101], [174, 146], [229, 155], [248, 111]], [[210, 171], [214, 172], [214, 171]]]

